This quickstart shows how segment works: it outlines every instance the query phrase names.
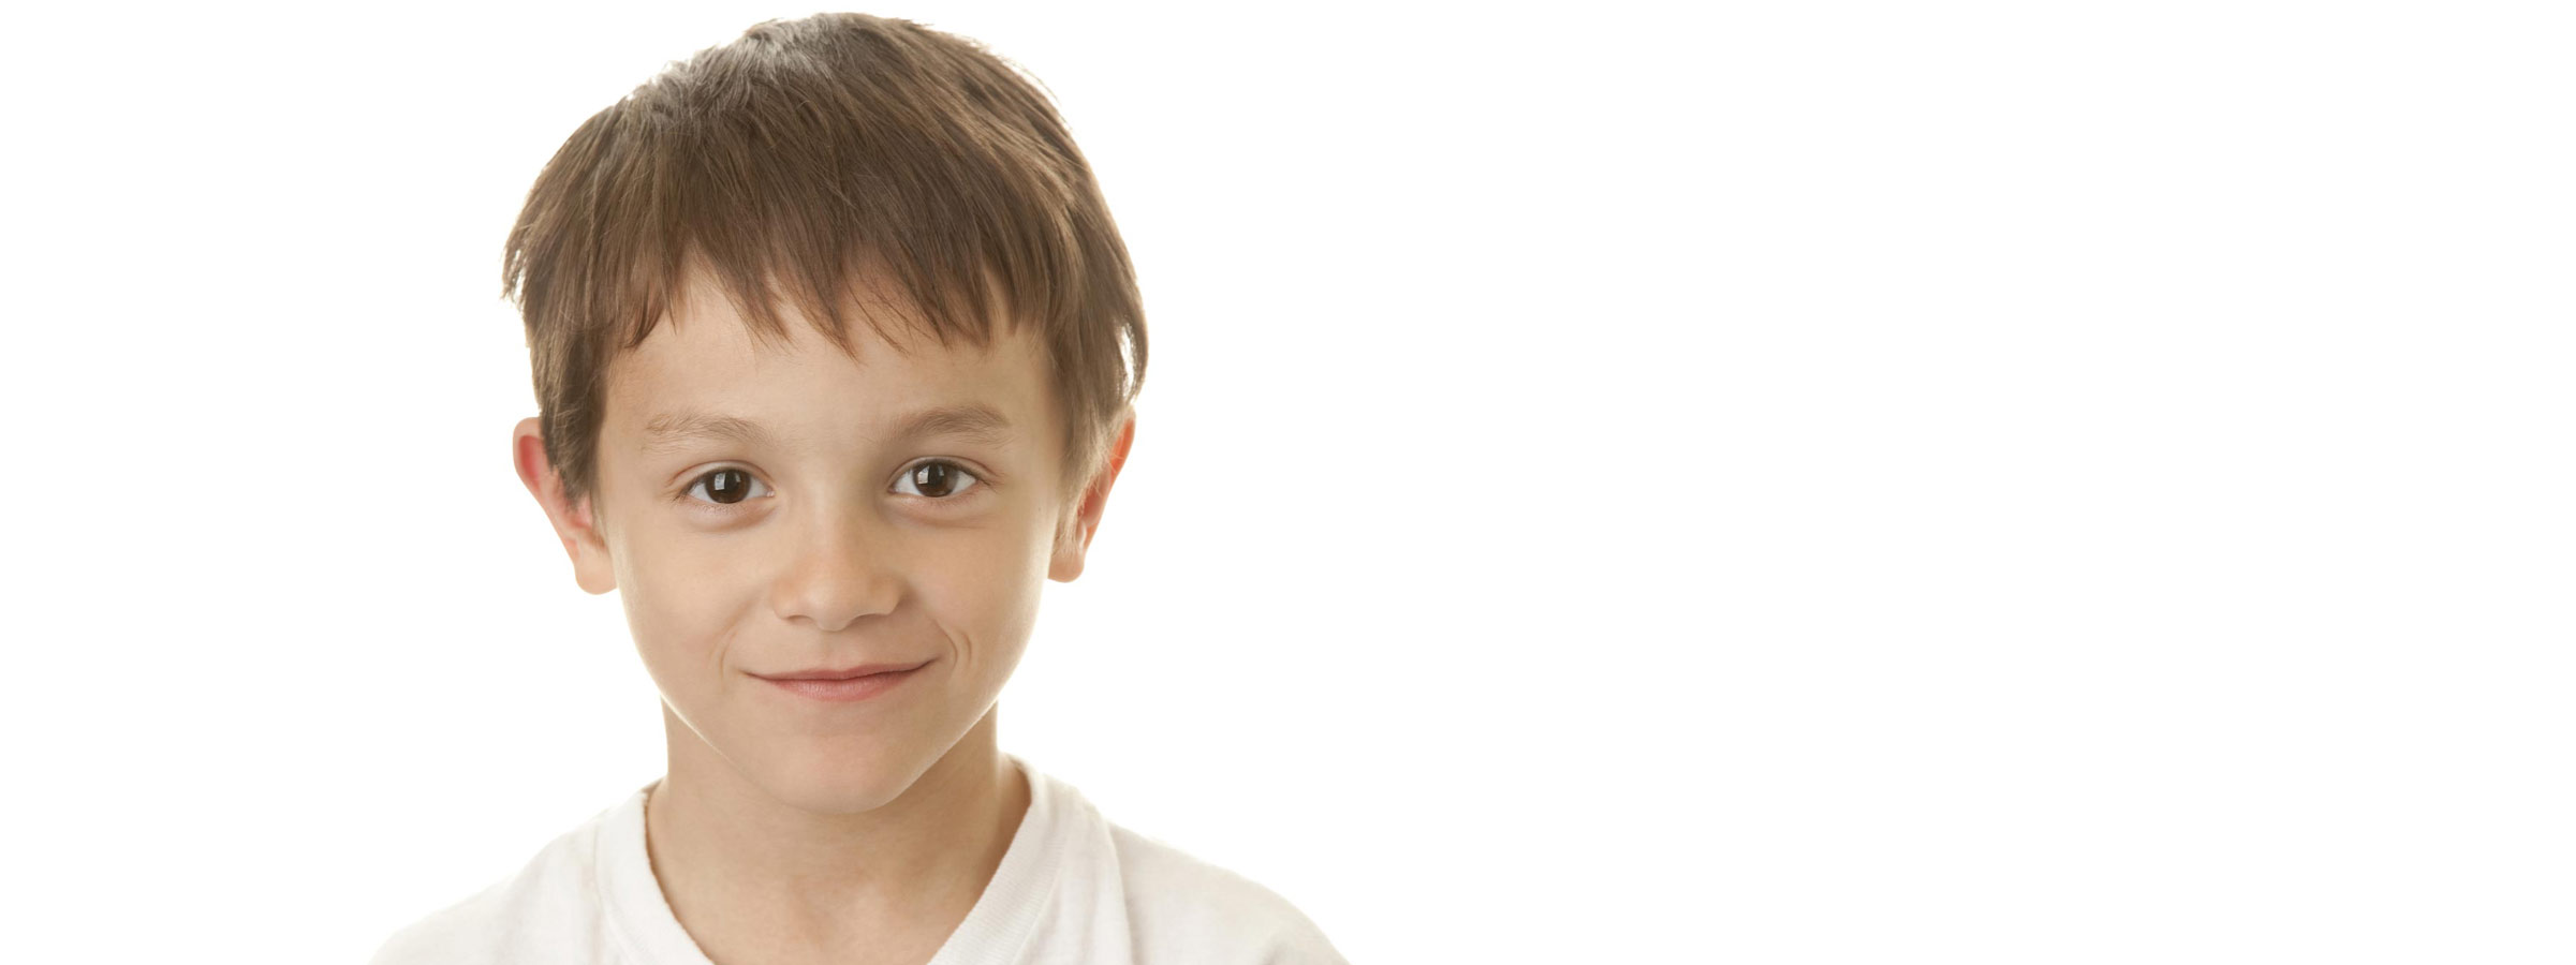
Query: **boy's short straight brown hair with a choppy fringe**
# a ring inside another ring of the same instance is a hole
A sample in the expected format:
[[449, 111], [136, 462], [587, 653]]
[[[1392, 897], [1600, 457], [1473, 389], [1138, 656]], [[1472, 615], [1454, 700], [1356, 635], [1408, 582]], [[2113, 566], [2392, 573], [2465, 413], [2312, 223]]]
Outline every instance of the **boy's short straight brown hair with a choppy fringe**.
[[786, 296], [853, 355], [845, 304], [876, 270], [940, 345], [989, 345], [997, 309], [1036, 324], [1064, 417], [1061, 499], [1097, 473], [1144, 383], [1136, 273], [1064, 121], [1018, 67], [912, 21], [752, 26], [582, 121], [536, 175], [502, 296], [528, 324], [567, 502], [595, 486], [608, 363], [693, 270], [757, 337], [786, 337]]

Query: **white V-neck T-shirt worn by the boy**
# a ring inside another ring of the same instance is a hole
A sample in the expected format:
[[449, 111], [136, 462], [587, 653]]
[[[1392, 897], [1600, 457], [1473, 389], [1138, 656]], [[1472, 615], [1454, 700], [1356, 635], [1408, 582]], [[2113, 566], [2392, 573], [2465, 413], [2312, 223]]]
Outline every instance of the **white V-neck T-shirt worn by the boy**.
[[[1028, 775], [1002, 867], [930, 965], [1347, 965], [1288, 898], [1121, 829], [1072, 785]], [[644, 793], [564, 831], [492, 888], [394, 932], [374, 965], [711, 965], [644, 854]]]

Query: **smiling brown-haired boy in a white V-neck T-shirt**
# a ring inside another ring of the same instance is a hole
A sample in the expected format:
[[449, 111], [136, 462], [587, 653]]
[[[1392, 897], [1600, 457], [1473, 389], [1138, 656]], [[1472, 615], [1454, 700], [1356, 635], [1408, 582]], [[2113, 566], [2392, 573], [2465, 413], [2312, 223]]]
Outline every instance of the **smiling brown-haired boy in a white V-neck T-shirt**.
[[760, 23], [564, 142], [505, 293], [518, 476], [626, 605], [667, 775], [376, 962], [1340, 962], [997, 749], [1146, 360], [1030, 82], [907, 21]]

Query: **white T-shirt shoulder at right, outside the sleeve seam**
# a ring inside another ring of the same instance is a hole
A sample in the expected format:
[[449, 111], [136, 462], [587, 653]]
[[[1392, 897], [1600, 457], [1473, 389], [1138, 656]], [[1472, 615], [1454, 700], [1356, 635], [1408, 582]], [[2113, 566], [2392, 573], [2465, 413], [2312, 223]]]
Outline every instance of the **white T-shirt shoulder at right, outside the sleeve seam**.
[[1110, 823], [1139, 962], [1342, 965], [1288, 898], [1159, 839]]

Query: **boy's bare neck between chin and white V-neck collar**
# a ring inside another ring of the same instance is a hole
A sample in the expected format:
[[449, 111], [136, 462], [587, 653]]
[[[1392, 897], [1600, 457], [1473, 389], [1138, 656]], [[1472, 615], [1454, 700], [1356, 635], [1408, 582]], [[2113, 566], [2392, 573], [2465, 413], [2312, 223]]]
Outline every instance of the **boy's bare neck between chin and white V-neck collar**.
[[670, 772], [644, 798], [644, 841], [672, 916], [708, 957], [719, 944], [737, 960], [760, 944], [884, 952], [904, 934], [935, 952], [1028, 813], [994, 713], [894, 800], [814, 813], [744, 780], [662, 708]]

